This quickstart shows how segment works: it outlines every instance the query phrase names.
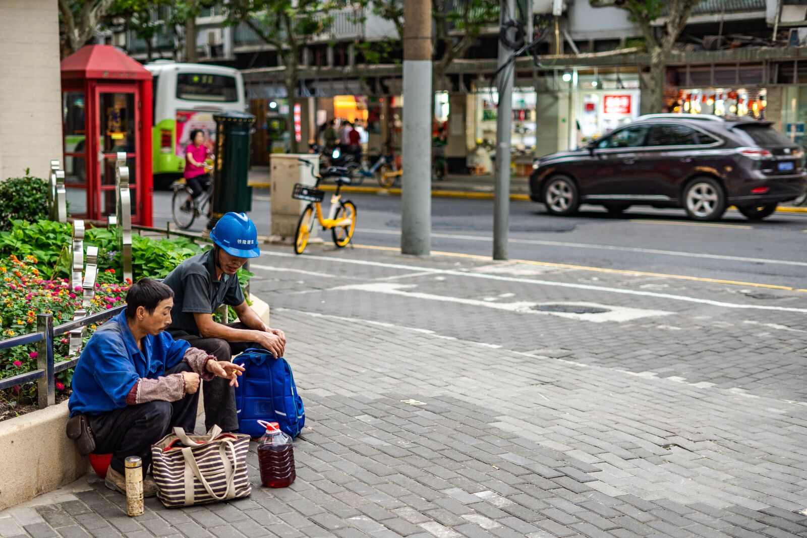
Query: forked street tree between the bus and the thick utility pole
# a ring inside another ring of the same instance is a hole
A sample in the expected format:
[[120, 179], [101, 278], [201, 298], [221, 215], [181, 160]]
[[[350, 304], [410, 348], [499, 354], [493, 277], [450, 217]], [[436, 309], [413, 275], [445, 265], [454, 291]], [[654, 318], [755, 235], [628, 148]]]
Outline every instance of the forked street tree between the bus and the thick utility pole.
[[[294, 98], [299, 84], [299, 61], [303, 48], [317, 35], [330, 30], [330, 11], [340, 6], [333, 0], [230, 0], [226, 4], [228, 24], [246, 24], [278, 54], [283, 85], [289, 100], [288, 124], [294, 124]], [[291, 152], [299, 151], [291, 137]]]

